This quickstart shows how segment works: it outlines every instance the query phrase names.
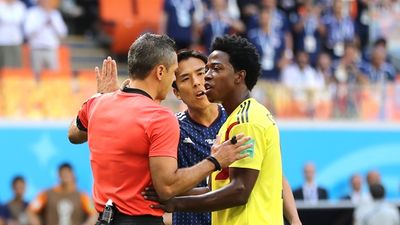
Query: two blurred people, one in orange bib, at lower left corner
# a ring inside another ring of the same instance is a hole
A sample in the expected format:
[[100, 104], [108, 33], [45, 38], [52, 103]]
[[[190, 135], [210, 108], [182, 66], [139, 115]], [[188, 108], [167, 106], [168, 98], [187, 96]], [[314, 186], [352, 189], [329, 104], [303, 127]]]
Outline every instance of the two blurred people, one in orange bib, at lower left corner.
[[74, 170], [69, 163], [58, 167], [59, 183], [38, 193], [34, 200], [24, 198], [26, 181], [15, 176], [13, 198], [0, 204], [0, 225], [93, 225], [97, 213], [89, 195], [78, 190]]

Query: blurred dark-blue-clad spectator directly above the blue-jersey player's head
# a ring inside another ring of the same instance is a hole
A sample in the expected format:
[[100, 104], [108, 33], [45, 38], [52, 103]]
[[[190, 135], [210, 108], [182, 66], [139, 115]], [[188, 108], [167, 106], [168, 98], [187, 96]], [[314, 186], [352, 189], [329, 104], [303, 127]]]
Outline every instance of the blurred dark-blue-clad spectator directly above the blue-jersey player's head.
[[[177, 49], [189, 48], [194, 39], [196, 20], [195, 0], [165, 0], [161, 16], [160, 34], [174, 39]], [[199, 10], [199, 9], [197, 9]]]

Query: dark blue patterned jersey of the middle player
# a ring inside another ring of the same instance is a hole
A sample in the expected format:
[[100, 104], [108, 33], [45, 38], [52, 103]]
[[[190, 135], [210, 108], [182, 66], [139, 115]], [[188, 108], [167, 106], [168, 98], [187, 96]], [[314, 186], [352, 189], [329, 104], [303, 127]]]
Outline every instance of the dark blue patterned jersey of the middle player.
[[[219, 116], [209, 126], [205, 127], [192, 120], [187, 111], [177, 113], [180, 126], [180, 140], [178, 149], [179, 168], [193, 166], [210, 155], [211, 146], [219, 128], [224, 124], [227, 115], [222, 106], [218, 106]], [[206, 187], [206, 181], [198, 187]], [[174, 212], [173, 225], [210, 225], [210, 213]]]

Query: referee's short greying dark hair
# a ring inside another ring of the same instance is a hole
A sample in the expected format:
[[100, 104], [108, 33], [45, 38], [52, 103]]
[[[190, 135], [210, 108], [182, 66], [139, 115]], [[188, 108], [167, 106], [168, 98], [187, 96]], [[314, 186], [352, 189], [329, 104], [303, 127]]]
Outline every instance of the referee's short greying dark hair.
[[174, 63], [175, 42], [167, 35], [145, 33], [128, 52], [129, 77], [144, 80], [157, 65], [167, 69]]

